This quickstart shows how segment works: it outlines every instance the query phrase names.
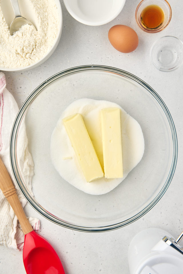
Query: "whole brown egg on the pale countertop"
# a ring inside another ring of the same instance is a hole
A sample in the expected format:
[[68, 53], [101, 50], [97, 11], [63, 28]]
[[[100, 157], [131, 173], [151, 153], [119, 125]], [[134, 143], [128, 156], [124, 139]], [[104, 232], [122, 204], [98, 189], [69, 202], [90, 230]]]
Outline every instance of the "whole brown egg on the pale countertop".
[[129, 53], [134, 51], [138, 46], [138, 36], [136, 32], [125, 25], [115, 25], [110, 28], [108, 38], [111, 45], [117, 51]]

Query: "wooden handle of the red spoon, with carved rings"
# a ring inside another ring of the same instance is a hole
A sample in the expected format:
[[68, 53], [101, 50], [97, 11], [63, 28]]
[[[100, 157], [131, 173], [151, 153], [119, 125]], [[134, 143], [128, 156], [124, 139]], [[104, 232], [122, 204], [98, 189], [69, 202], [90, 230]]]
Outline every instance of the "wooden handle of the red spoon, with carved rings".
[[15, 212], [15, 215], [17, 216], [23, 233], [27, 234], [31, 231], [33, 231], [33, 228], [31, 224], [29, 223], [23, 208], [21, 206], [21, 203], [19, 201], [19, 198], [17, 196], [15, 187], [13, 186], [13, 183], [11, 181], [11, 178], [7, 172], [7, 169], [5, 168], [5, 165], [3, 164], [1, 158], [0, 158], [0, 188], [4, 194], [4, 196], [7, 198], [10, 206], [12, 207], [13, 211]]

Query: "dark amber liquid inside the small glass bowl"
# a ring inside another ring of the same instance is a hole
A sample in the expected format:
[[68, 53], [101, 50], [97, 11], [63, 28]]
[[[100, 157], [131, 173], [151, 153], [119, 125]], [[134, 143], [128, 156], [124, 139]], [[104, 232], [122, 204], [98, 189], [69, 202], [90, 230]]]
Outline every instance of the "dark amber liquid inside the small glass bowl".
[[164, 21], [164, 11], [157, 5], [150, 5], [143, 9], [140, 21], [148, 29], [160, 27]]

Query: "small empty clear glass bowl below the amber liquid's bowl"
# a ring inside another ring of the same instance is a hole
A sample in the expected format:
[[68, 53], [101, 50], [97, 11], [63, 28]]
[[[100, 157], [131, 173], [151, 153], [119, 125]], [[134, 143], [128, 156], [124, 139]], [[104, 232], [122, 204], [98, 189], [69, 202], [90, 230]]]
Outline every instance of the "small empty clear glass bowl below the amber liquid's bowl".
[[161, 71], [172, 71], [183, 63], [183, 43], [174, 36], [163, 36], [150, 49], [152, 64]]

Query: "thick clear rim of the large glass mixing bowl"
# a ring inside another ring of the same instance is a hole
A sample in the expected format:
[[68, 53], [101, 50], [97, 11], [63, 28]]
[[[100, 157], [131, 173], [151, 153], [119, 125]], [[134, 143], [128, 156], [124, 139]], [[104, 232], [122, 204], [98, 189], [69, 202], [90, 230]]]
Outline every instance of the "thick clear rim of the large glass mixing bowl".
[[[25, 115], [27, 108], [29, 108], [32, 98], [35, 98], [44, 89], [45, 86], [49, 85], [53, 80], [56, 80], [60, 76], [64, 77], [69, 74], [74, 74], [77, 72], [83, 72], [83, 71], [89, 71], [89, 70], [104, 71], [104, 72], [107, 71], [107, 72], [113, 72], [116, 74], [120, 74], [121, 76], [126, 76], [127, 78], [129, 78], [131, 80], [135, 80], [136, 82], [138, 82], [138, 84], [140, 84], [141, 86], [146, 88], [146, 90], [148, 90], [150, 92], [150, 94], [154, 97], [154, 99], [160, 104], [160, 106], [164, 110], [164, 113], [166, 115], [166, 118], [168, 120], [170, 129], [171, 129], [172, 140], [173, 140], [173, 148], [172, 148], [173, 156], [171, 159], [170, 170], [168, 172], [168, 175], [167, 175], [166, 181], [164, 182], [164, 185], [161, 187], [161, 189], [159, 190], [156, 197], [153, 200], [151, 200], [150, 203], [146, 207], [144, 207], [140, 212], [136, 213], [134, 216], [132, 216], [130, 218], [128, 218], [124, 221], [120, 221], [118, 223], [114, 223], [112, 225], [96, 226], [96, 227], [87, 227], [87, 226], [76, 225], [74, 223], [69, 223], [68, 221], [65, 221], [63, 219], [60, 219], [60, 218], [54, 216], [53, 214], [51, 214], [50, 212], [45, 210], [43, 207], [41, 207], [41, 205], [39, 203], [37, 203], [35, 201], [35, 199], [28, 193], [27, 188], [23, 184], [21, 184], [21, 176], [19, 175], [19, 172], [18, 172], [18, 166], [17, 166], [17, 162], [16, 162], [17, 159], [16, 159], [16, 153], [15, 153], [16, 142], [17, 142], [16, 136], [17, 136], [17, 133], [19, 130], [19, 124], [21, 122], [21, 119]], [[104, 232], [104, 231], [111, 231], [114, 229], [118, 229], [120, 227], [124, 227], [124, 226], [136, 221], [137, 219], [142, 217], [144, 214], [146, 214], [150, 209], [152, 209], [152, 207], [154, 207], [157, 204], [157, 202], [162, 198], [162, 196], [166, 192], [168, 186], [170, 185], [170, 182], [171, 182], [174, 172], [175, 172], [176, 163], [177, 163], [177, 154], [178, 154], [178, 143], [177, 143], [177, 135], [176, 135], [175, 125], [174, 125], [172, 116], [171, 116], [168, 108], [166, 107], [164, 101], [161, 99], [161, 97], [158, 95], [158, 93], [154, 89], [152, 89], [146, 82], [144, 82], [143, 80], [141, 80], [134, 74], [131, 74], [130, 72], [121, 70], [119, 68], [109, 67], [109, 66], [105, 66], [105, 65], [83, 65], [83, 66], [68, 68], [61, 72], [58, 72], [57, 74], [54, 74], [53, 76], [49, 77], [47, 80], [42, 82], [28, 96], [28, 98], [23, 103], [22, 107], [20, 108], [20, 110], [15, 118], [13, 128], [11, 131], [11, 136], [10, 136], [9, 150], [10, 150], [11, 169], [13, 172], [13, 176], [15, 178], [15, 182], [17, 183], [18, 188], [20, 189], [21, 193], [23, 194], [23, 196], [25, 197], [27, 202], [37, 212], [39, 212], [46, 219], [52, 221], [55, 224], [61, 225], [65, 228], [69, 228], [69, 229], [73, 229], [73, 230], [77, 230], [77, 231], [84, 231], [84, 232]]]

